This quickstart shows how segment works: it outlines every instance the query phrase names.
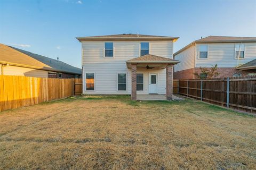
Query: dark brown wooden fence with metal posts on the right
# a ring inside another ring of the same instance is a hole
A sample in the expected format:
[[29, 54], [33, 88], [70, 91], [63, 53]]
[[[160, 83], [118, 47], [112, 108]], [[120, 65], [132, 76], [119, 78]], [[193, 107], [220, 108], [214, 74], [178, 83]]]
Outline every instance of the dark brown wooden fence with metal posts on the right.
[[178, 86], [178, 94], [256, 113], [255, 77], [174, 81]]

